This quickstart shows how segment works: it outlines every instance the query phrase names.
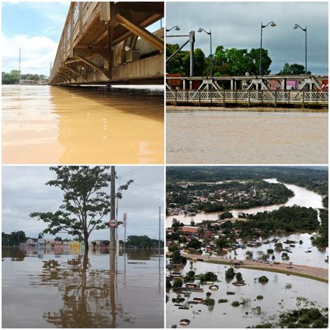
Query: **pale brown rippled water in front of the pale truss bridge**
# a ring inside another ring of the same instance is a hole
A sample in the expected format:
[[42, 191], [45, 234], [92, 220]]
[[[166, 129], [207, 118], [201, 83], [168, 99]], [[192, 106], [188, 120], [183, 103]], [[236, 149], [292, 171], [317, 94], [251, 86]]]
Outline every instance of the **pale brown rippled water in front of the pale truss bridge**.
[[166, 113], [167, 164], [326, 164], [328, 113]]

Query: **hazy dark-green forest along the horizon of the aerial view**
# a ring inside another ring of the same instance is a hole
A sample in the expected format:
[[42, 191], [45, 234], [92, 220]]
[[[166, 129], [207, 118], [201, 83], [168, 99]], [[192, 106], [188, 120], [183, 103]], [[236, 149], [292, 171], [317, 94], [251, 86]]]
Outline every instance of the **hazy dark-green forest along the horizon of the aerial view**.
[[249, 180], [277, 178], [283, 183], [328, 194], [328, 169], [326, 166], [167, 166], [166, 182], [218, 182], [224, 180]]

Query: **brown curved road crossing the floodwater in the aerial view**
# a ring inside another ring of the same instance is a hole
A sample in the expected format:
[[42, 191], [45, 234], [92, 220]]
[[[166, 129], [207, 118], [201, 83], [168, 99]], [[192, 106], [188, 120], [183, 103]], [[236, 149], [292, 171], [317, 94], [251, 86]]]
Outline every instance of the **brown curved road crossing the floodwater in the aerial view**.
[[314, 278], [319, 281], [328, 282], [329, 274], [328, 269], [320, 268], [320, 267], [310, 267], [304, 265], [294, 265], [294, 264], [286, 264], [280, 263], [278, 265], [267, 264], [261, 261], [253, 261], [253, 260], [233, 260], [228, 258], [221, 258], [218, 256], [201, 256], [198, 254], [189, 254], [182, 253], [181, 255], [189, 258], [191, 260], [203, 260], [206, 262], [219, 262], [223, 264], [233, 265], [234, 262], [243, 262], [239, 267], [242, 268], [250, 268], [250, 269], [262, 269], [268, 272], [279, 272], [296, 276], [303, 276]]

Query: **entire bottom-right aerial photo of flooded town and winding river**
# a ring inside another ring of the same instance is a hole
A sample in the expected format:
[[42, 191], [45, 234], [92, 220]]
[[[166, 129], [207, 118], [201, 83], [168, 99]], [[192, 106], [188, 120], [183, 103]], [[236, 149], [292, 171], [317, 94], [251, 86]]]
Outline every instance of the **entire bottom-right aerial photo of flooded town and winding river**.
[[166, 325], [327, 328], [327, 166], [168, 166]]

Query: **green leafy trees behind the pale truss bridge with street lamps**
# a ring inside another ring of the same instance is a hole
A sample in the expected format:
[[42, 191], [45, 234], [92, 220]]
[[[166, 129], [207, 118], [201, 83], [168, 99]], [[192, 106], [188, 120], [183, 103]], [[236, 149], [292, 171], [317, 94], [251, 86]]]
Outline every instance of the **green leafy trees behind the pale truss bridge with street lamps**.
[[[179, 49], [178, 44], [166, 44], [166, 56], [171, 56]], [[181, 50], [170, 61], [166, 63], [167, 73], [181, 73], [183, 76], [189, 76], [189, 58], [188, 50]], [[226, 49], [223, 46], [217, 46], [212, 54], [212, 75], [230, 76], [259, 74], [260, 48], [237, 49], [235, 47]], [[272, 59], [269, 57], [267, 49], [262, 49], [262, 74], [271, 72], [270, 65]], [[210, 72], [210, 54], [205, 56], [201, 48], [194, 50], [194, 75], [202, 76]], [[278, 74], [303, 74], [304, 65], [297, 63], [284, 63], [283, 68]], [[310, 72], [309, 72], [310, 73]]]

